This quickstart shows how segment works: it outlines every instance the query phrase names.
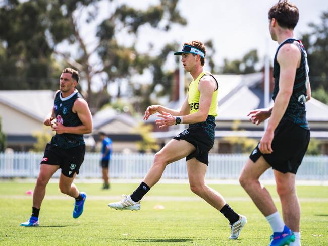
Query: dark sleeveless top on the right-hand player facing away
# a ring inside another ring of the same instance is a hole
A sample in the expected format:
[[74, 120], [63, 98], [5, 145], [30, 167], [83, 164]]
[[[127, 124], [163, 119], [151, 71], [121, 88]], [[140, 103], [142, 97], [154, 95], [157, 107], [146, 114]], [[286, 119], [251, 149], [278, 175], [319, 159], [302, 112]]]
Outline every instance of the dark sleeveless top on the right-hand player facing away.
[[286, 119], [292, 121], [294, 124], [304, 129], [309, 129], [308, 122], [306, 120], [306, 108], [305, 108], [309, 67], [307, 64], [307, 54], [300, 40], [289, 38], [284, 42], [282, 42], [277, 49], [275, 60], [274, 60], [275, 88], [272, 94], [272, 99], [275, 101], [277, 94], [279, 92], [280, 65], [277, 61], [277, 54], [279, 49], [286, 43], [292, 43], [299, 48], [299, 50], [301, 51], [301, 63], [300, 63], [300, 67], [296, 70], [293, 93], [289, 100], [285, 114], [282, 117], [282, 120]]

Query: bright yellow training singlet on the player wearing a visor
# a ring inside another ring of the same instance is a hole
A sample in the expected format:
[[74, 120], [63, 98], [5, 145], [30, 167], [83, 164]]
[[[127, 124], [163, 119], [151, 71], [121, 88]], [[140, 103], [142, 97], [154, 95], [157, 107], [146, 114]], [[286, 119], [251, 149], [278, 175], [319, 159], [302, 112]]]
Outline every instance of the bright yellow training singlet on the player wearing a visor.
[[[200, 75], [197, 77], [197, 79], [191, 81], [191, 83], [189, 84], [188, 104], [190, 106], [190, 114], [199, 111], [200, 92], [198, 90], [198, 84], [199, 84], [200, 79], [204, 75], [212, 75], [212, 74], [210, 72], [204, 71], [204, 72], [200, 73]], [[213, 78], [214, 78], [214, 76], [213, 76]], [[215, 79], [215, 81], [216, 81], [216, 79]], [[217, 83], [217, 81], [216, 81], [216, 83]], [[218, 83], [217, 83], [217, 87], [218, 87]], [[210, 106], [209, 112], [208, 112], [208, 115], [212, 115], [214, 117], [217, 116], [217, 93], [218, 93], [218, 88], [216, 89], [216, 91], [213, 92], [212, 103], [211, 103], [211, 106]]]

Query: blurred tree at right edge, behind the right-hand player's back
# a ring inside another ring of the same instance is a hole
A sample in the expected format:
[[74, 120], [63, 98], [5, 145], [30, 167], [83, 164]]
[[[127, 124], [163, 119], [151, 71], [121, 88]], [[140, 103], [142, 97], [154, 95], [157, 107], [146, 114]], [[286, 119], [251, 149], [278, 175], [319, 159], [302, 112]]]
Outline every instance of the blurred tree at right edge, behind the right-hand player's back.
[[309, 78], [313, 91], [328, 90], [328, 10], [321, 15], [321, 23], [310, 23], [312, 29], [301, 40], [308, 54]]

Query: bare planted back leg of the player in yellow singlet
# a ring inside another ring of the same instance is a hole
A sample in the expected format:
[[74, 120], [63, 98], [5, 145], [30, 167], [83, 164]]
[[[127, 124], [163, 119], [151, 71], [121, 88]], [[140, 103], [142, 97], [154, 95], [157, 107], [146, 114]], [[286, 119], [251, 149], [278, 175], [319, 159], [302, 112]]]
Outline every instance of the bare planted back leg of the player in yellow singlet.
[[200, 196], [207, 203], [220, 211], [226, 204], [226, 201], [221, 194], [205, 184], [206, 170], [207, 165], [201, 163], [196, 158], [187, 161], [190, 189], [193, 193]]

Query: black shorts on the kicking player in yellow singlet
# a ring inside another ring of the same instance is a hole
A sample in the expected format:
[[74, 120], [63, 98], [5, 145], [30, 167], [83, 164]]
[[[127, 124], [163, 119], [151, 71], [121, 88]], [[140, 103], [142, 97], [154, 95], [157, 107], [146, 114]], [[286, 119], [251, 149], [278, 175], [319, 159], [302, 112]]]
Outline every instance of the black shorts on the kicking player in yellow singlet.
[[214, 141], [202, 127], [189, 127], [173, 139], [182, 139], [195, 146], [196, 150], [186, 157], [186, 161], [191, 158], [196, 158], [200, 162], [208, 165], [208, 152], [213, 147]]

